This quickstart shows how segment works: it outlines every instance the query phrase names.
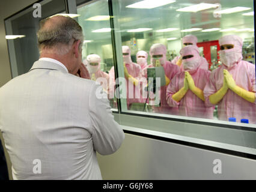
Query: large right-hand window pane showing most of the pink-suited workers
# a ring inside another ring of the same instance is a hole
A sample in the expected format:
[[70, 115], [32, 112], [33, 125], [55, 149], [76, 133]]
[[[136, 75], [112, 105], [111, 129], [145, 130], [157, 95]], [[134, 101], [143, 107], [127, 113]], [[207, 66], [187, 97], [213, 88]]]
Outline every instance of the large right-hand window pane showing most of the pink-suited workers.
[[112, 2], [122, 112], [256, 124], [254, 1]]

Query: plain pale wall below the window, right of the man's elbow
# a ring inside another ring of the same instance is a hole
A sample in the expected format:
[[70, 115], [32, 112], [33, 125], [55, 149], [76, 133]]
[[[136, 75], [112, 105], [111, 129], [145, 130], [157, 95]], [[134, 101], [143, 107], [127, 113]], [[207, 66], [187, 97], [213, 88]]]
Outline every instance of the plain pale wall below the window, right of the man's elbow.
[[115, 154], [97, 157], [103, 179], [256, 179], [255, 160], [132, 134]]

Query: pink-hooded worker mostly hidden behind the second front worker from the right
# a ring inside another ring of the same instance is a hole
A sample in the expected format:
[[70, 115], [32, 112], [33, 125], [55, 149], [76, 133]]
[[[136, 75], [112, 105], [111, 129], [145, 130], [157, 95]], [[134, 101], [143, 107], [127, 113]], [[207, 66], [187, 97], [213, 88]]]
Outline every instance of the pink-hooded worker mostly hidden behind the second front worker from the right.
[[[189, 45], [195, 45], [197, 46], [197, 37], [195, 37], [195, 35], [186, 35], [182, 38], [182, 43], [183, 43], [183, 47], [184, 46], [189, 46]], [[201, 61], [200, 61], [200, 68], [203, 68], [204, 70], [208, 70], [209, 69], [209, 64], [206, 61], [206, 58], [204, 58], [203, 56], [200, 57]], [[181, 70], [183, 70], [182, 67], [182, 58], [181, 56], [176, 56], [174, 59], [172, 59], [171, 61], [173, 64], [177, 64], [178, 66], [180, 66]]]

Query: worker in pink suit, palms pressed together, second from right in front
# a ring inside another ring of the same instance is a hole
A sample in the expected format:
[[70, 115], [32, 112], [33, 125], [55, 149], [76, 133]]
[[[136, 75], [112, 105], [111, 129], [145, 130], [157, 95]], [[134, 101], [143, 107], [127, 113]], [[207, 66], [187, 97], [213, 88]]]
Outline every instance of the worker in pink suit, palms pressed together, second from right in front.
[[189, 45], [180, 50], [183, 70], [171, 80], [166, 91], [169, 106], [177, 107], [179, 115], [198, 118], [213, 118], [213, 107], [204, 104], [203, 90], [210, 71], [200, 68], [200, 55], [197, 46]]

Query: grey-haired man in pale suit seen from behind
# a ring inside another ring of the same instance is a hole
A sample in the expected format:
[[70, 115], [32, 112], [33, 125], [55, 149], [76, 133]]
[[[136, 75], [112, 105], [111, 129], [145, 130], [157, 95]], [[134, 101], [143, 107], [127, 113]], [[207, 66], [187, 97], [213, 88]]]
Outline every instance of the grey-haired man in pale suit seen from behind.
[[[40, 59], [0, 88], [0, 130], [14, 179], [102, 179], [96, 152], [112, 154], [124, 133], [102, 87], [82, 64], [82, 28], [70, 17], [40, 22]], [[79, 77], [78, 77], [79, 76]]]

